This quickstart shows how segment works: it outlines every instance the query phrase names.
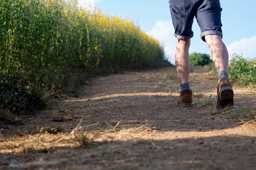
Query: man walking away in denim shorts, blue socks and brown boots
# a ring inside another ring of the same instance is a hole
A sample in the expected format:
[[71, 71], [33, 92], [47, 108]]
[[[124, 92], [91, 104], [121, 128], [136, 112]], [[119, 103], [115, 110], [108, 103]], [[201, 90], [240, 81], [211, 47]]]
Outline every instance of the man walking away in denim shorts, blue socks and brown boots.
[[211, 57], [219, 74], [217, 109], [234, 105], [234, 92], [229, 82], [227, 47], [222, 42], [220, 0], [169, 0], [171, 18], [177, 38], [175, 65], [180, 79], [181, 93], [178, 105], [192, 106], [192, 90], [189, 86], [190, 39], [195, 17], [201, 29], [201, 39], [211, 50]]

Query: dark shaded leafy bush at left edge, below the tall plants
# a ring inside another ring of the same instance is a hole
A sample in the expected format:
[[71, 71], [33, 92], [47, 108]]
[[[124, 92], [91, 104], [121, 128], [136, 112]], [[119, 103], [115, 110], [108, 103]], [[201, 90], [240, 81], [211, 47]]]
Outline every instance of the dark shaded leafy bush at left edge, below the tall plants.
[[10, 110], [19, 114], [32, 108], [43, 108], [45, 91], [43, 86], [25, 86], [25, 81], [18, 76], [0, 74], [0, 111]]

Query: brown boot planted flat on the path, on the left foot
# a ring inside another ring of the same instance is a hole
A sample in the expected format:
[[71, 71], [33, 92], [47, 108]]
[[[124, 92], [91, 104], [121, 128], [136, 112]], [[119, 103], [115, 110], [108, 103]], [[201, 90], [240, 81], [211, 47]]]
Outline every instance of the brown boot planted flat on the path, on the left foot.
[[181, 108], [192, 107], [192, 90], [184, 90], [180, 92], [180, 99], [178, 101], [178, 106]]

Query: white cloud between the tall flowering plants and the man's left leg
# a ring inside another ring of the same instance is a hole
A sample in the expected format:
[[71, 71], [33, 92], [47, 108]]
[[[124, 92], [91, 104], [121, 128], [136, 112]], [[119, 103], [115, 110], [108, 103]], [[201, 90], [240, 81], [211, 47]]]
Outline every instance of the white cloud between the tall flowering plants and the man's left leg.
[[168, 60], [175, 64], [175, 49], [177, 38], [174, 37], [174, 28], [171, 20], [157, 21], [155, 26], [147, 32], [164, 45], [164, 52]]

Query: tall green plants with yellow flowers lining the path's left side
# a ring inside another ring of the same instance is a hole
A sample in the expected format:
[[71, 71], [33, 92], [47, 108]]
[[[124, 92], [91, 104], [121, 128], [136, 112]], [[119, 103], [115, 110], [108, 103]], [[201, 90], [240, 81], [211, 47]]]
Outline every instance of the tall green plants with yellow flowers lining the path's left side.
[[65, 0], [0, 0], [0, 109], [17, 96], [38, 103], [45, 91], [62, 93], [80, 75], [164, 64], [163, 47], [132, 18]]

